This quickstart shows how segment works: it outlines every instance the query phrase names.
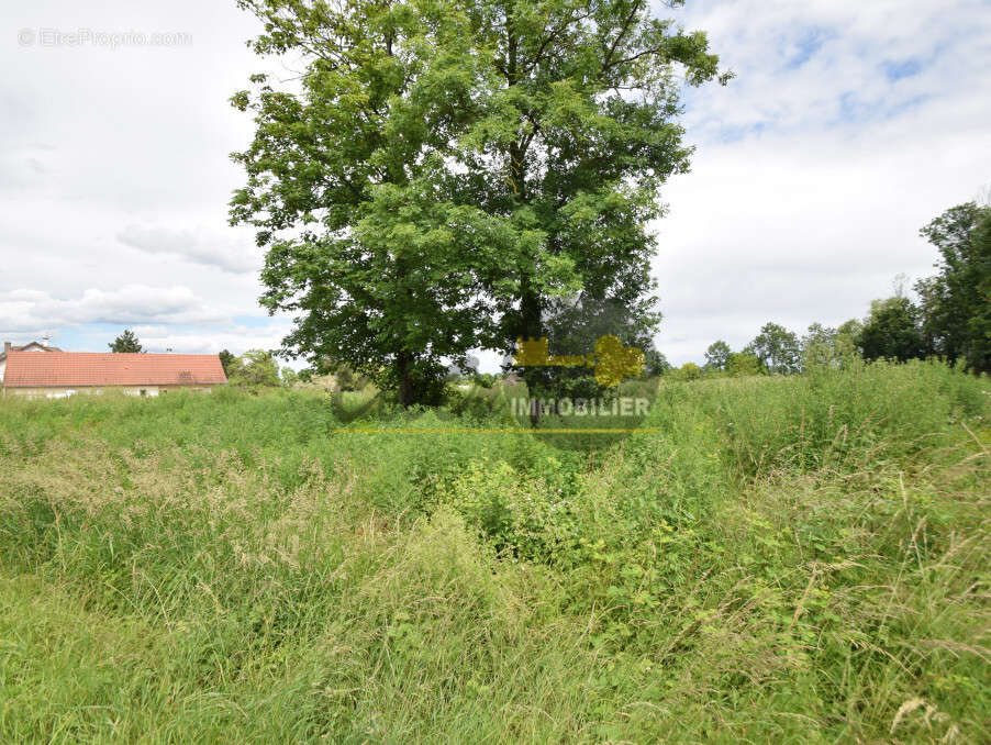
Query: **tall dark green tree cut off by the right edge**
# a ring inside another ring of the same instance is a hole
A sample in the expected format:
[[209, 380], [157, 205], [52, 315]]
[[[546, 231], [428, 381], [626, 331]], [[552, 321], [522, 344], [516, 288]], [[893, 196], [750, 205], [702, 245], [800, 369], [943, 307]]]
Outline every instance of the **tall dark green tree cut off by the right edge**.
[[939, 251], [939, 274], [915, 285], [931, 353], [991, 371], [991, 207], [950, 208], [920, 231]]

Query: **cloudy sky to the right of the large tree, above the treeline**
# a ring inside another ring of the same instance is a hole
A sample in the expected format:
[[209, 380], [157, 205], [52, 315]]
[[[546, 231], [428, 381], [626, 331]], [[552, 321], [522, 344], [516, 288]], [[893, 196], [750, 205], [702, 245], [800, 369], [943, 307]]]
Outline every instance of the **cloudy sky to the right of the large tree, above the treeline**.
[[698, 149], [656, 225], [672, 362], [861, 316], [897, 274], [932, 274], [918, 229], [991, 179], [987, 8], [689, 2], [737, 78], [688, 92]]

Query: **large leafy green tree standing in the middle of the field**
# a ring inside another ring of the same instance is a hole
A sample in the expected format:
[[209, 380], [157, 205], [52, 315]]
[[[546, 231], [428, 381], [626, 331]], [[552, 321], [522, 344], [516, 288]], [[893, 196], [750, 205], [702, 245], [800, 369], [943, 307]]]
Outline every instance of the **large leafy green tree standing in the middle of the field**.
[[[544, 334], [556, 297], [642, 308], [658, 188], [688, 167], [702, 33], [646, 0], [238, 0], [301, 76], [232, 101], [253, 142], [235, 223], [267, 248], [288, 352], [430, 400], [442, 357]], [[725, 80], [726, 76], [721, 79]]]

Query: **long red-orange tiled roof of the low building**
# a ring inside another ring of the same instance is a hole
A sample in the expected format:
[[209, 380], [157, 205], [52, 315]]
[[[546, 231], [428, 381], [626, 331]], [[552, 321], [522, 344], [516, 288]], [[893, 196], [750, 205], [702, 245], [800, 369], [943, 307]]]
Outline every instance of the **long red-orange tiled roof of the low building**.
[[4, 388], [205, 386], [226, 382], [216, 355], [11, 352]]

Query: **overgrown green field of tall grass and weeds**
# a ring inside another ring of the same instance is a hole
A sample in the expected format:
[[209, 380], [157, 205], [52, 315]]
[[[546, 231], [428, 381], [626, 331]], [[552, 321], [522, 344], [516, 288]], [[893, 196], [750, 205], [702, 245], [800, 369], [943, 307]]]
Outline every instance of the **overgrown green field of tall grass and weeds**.
[[989, 390], [2, 399], [0, 742], [991, 742]]

